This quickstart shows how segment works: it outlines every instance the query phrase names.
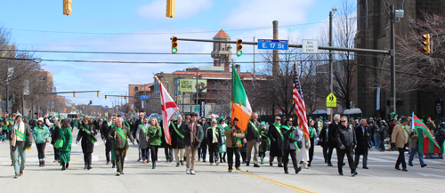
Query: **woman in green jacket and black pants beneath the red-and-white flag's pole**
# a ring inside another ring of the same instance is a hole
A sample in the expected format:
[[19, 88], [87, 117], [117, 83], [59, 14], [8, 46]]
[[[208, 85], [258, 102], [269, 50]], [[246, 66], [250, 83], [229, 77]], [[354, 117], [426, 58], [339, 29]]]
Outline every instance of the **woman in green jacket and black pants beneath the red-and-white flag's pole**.
[[156, 161], [158, 161], [158, 148], [161, 145], [161, 137], [162, 131], [161, 127], [158, 125], [158, 119], [152, 117], [150, 120], [149, 131], [147, 132], [147, 136], [150, 137], [147, 146], [150, 147], [151, 151], [151, 163], [152, 168], [156, 168]]

